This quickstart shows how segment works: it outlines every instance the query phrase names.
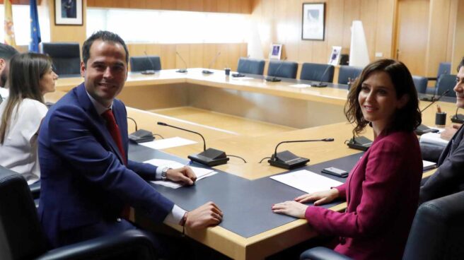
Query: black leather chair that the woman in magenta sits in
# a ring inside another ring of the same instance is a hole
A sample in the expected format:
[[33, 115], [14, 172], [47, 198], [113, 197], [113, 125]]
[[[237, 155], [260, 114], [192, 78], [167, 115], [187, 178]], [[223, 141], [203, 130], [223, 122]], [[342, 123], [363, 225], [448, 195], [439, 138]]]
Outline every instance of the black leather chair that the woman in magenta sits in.
[[[464, 191], [427, 201], [417, 209], [403, 260], [463, 259]], [[301, 254], [302, 260], [347, 260], [325, 247]]]

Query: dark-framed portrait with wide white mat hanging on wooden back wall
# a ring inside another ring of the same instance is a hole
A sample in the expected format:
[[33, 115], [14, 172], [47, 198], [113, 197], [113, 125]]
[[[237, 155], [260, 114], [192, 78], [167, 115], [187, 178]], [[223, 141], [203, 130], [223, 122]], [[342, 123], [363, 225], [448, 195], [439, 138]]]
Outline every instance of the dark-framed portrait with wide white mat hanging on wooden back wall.
[[324, 40], [325, 3], [303, 4], [302, 40]]

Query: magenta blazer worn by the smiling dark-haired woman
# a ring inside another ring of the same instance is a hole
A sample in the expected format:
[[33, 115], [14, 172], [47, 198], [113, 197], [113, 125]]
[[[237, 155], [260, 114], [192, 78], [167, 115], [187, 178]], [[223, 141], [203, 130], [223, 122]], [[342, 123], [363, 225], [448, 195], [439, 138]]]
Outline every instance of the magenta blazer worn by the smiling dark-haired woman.
[[419, 200], [422, 158], [417, 136], [381, 134], [336, 187], [347, 200], [338, 213], [310, 206], [306, 220], [322, 235], [339, 237], [335, 251], [353, 259], [401, 259]]

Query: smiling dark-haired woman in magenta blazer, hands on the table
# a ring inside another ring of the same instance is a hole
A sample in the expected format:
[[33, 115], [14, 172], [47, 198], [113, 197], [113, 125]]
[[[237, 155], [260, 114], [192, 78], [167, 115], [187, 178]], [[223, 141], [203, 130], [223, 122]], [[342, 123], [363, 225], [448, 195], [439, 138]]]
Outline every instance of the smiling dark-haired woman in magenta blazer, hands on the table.
[[[306, 218], [322, 235], [338, 237], [335, 251], [354, 259], [401, 259], [419, 199], [422, 158], [414, 129], [421, 123], [410, 71], [383, 59], [366, 66], [349, 91], [345, 114], [359, 134], [369, 124], [374, 141], [347, 182], [272, 206]], [[347, 211], [318, 207], [341, 198]], [[315, 206], [303, 203], [315, 201]]]

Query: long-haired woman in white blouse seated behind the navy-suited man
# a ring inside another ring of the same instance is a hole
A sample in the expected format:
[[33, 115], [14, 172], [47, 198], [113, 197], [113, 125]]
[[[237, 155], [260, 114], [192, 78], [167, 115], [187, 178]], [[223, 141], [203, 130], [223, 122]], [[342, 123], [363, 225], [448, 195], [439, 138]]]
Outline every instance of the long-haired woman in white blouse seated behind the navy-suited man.
[[43, 54], [16, 54], [10, 61], [8, 99], [0, 105], [0, 165], [33, 184], [40, 179], [37, 133], [47, 114], [44, 95], [54, 91], [57, 74]]

